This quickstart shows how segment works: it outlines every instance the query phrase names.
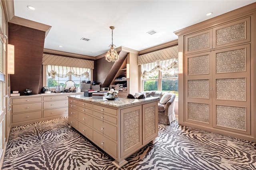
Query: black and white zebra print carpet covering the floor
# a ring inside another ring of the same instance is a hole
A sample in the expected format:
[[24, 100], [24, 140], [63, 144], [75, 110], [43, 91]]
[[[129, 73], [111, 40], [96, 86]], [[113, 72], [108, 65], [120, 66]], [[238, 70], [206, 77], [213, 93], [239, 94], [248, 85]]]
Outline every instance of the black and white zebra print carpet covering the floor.
[[[122, 170], [254, 170], [256, 143], [190, 127], [158, 124], [159, 141]], [[108, 154], [68, 127], [66, 118], [13, 127], [2, 170], [116, 170]]]

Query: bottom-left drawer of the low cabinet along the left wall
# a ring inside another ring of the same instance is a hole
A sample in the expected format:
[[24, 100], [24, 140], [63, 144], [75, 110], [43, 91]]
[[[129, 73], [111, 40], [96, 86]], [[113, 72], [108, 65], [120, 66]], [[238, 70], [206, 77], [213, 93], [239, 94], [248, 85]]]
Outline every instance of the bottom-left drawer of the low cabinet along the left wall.
[[28, 113], [19, 113], [12, 115], [12, 123], [17, 123], [21, 121], [28, 121], [32, 119], [42, 118], [42, 111], [33, 111]]

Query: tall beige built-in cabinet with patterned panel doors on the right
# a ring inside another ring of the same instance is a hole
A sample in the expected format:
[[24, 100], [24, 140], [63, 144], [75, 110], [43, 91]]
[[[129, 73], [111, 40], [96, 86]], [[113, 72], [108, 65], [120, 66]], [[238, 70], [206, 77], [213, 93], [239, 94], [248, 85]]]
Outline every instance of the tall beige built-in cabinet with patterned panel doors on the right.
[[255, 10], [256, 3], [175, 32], [180, 124], [256, 141]]

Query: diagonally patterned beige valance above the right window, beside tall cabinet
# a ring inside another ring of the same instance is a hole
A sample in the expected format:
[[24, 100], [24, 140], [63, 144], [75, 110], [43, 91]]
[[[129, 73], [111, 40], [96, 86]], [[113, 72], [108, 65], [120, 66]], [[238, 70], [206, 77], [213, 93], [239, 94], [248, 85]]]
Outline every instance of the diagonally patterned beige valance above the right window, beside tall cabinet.
[[138, 65], [178, 58], [178, 45], [138, 56]]

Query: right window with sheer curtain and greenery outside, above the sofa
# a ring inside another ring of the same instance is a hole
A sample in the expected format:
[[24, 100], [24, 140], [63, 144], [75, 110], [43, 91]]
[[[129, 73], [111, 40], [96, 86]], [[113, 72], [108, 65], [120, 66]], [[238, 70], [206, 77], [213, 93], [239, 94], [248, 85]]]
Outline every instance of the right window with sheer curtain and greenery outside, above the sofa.
[[178, 59], [141, 65], [142, 91], [160, 90], [178, 96]]

